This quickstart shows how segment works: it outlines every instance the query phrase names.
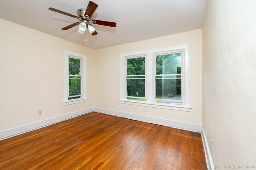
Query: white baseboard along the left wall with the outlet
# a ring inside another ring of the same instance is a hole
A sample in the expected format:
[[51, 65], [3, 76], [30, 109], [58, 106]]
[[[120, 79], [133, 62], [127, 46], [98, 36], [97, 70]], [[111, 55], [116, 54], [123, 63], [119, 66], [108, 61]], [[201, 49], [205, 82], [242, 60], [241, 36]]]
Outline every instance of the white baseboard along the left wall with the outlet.
[[41, 127], [45, 127], [45, 126], [48, 126], [48, 125], [51, 125], [51, 124], [54, 124], [54, 123], [65, 121], [67, 119], [71, 119], [71, 118], [77, 117], [79, 115], [84, 115], [84, 114], [90, 113], [92, 111], [94, 111], [93, 107], [89, 108], [89, 109], [84, 109], [84, 110], [81, 110], [81, 111], [76, 111], [76, 112], [73, 112], [73, 113], [68, 113], [66, 115], [61, 115], [61, 116], [58, 116], [58, 117], [52, 117], [50, 119], [45, 119], [45, 120], [42, 120], [42, 121], [33, 122], [33, 123], [26, 124], [26, 125], [22, 125], [22, 126], [2, 130], [2, 131], [0, 131], [0, 140], [2, 140], [4, 138], [9, 138], [9, 137], [15, 136], [15, 135], [18, 135], [18, 134], [21, 134], [21, 133], [25, 133], [25, 132], [28, 132], [28, 131], [31, 131], [31, 130], [35, 130], [35, 129], [38, 129], [38, 128], [41, 128]]

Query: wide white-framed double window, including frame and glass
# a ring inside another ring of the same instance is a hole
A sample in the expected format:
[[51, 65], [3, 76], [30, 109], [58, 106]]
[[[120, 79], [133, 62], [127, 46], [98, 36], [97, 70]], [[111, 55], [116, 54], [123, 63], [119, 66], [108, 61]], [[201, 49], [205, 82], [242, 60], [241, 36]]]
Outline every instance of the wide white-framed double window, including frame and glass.
[[190, 111], [189, 44], [121, 53], [120, 101]]

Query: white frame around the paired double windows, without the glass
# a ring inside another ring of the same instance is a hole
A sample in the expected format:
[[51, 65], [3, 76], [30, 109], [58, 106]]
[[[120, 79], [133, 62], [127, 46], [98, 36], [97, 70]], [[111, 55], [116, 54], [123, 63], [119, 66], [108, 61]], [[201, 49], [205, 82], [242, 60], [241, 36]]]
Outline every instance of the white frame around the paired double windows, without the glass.
[[[182, 52], [182, 105], [155, 103], [155, 75], [156, 61], [155, 56], [165, 53]], [[126, 99], [126, 59], [132, 57], [146, 56], [146, 102]], [[173, 45], [170, 47], [161, 47], [156, 49], [147, 49], [143, 51], [134, 51], [120, 54], [120, 103], [139, 105], [146, 107], [155, 107], [162, 109], [172, 109], [179, 111], [190, 111], [190, 73], [189, 73], [189, 43]]]

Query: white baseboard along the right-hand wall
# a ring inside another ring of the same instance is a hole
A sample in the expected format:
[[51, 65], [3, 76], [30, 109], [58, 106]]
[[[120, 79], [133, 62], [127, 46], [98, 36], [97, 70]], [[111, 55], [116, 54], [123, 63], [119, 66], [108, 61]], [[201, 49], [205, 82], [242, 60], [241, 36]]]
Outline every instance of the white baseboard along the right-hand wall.
[[205, 154], [208, 170], [214, 170], [214, 165], [213, 165], [213, 162], [212, 162], [212, 156], [211, 156], [210, 148], [208, 146], [207, 138], [206, 138], [206, 135], [204, 133], [204, 128], [203, 127], [202, 127], [201, 136], [202, 136], [202, 141], [203, 141], [203, 145], [204, 145], [204, 154]]

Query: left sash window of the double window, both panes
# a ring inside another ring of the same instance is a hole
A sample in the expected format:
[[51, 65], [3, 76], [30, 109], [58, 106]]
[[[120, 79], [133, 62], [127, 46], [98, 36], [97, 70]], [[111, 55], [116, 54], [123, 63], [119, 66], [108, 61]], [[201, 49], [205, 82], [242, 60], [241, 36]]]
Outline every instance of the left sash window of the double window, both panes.
[[145, 57], [126, 59], [126, 99], [146, 101]]

